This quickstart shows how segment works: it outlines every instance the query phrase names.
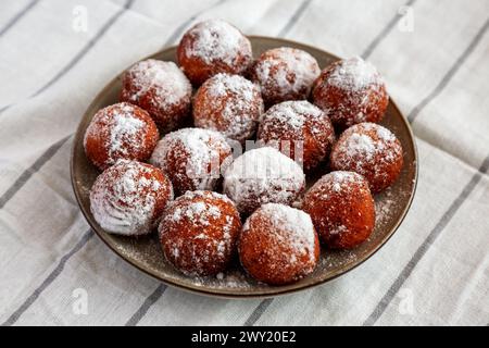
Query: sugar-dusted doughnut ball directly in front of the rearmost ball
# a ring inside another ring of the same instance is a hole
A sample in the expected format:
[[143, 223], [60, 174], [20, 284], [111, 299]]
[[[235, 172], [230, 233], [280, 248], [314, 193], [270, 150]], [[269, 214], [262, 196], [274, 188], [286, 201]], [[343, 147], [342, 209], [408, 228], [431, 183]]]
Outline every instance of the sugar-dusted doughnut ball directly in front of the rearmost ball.
[[260, 88], [239, 75], [209, 78], [193, 98], [193, 123], [239, 142], [251, 138], [264, 111]]

